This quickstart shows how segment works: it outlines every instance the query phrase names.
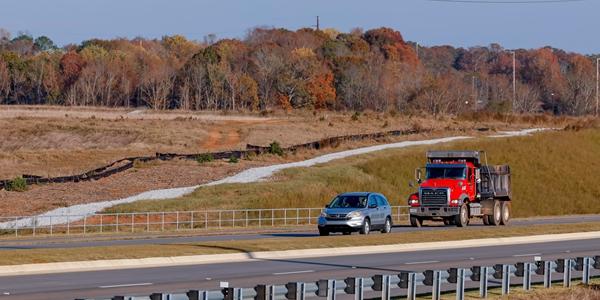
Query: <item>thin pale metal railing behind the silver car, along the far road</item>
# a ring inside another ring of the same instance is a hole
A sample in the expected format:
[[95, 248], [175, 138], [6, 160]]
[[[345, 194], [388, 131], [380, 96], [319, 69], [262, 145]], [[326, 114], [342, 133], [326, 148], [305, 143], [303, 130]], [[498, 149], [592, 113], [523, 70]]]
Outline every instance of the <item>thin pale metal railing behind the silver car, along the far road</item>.
[[[18, 237], [316, 225], [322, 210], [271, 208], [0, 217], [0, 234]], [[392, 206], [392, 219], [407, 220], [408, 206]]]

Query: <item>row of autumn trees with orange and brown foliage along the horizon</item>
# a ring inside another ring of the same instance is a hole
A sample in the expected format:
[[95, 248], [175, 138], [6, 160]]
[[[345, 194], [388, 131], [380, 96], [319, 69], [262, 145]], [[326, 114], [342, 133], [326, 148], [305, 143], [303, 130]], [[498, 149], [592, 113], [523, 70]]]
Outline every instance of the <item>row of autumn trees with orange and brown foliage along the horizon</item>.
[[255, 28], [241, 40], [175, 35], [91, 39], [61, 48], [46, 36], [11, 38], [0, 29], [0, 101], [585, 115], [596, 108], [596, 58], [551, 47], [419, 47], [390, 28]]

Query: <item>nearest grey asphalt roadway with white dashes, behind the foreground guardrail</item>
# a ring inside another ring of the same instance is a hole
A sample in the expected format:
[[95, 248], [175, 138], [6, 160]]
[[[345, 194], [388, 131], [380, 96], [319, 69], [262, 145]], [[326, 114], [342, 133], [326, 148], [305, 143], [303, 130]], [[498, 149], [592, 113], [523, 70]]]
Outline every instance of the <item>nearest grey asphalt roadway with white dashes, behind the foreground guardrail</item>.
[[[450, 267], [600, 255], [600, 239], [420, 252], [255, 260], [197, 266], [0, 277], [0, 299], [74, 299], [315, 281]], [[595, 271], [595, 274], [598, 274]], [[9, 294], [9, 295], [6, 295]], [[4, 295], [4, 296], [2, 296]]]

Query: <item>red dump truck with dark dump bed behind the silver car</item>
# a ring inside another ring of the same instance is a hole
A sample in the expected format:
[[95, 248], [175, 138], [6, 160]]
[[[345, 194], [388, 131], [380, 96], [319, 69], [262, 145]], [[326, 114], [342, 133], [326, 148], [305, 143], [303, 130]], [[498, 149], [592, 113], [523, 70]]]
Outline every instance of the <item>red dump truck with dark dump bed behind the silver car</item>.
[[415, 177], [419, 191], [408, 198], [413, 227], [425, 220], [458, 227], [472, 218], [483, 218], [485, 225], [510, 220], [510, 167], [487, 165], [483, 151], [429, 151], [427, 165]]

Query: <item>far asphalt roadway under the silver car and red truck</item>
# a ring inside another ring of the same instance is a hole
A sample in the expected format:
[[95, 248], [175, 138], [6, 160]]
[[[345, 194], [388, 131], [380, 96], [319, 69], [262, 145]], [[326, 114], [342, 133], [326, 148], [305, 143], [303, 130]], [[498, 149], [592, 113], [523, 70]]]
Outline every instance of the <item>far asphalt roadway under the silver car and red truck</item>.
[[[581, 215], [581, 216], [560, 216], [560, 217], [543, 217], [543, 218], [528, 218], [528, 219], [513, 219], [511, 226], [529, 226], [542, 224], [573, 224], [582, 222], [600, 222], [600, 215]], [[471, 227], [483, 226], [481, 221], [474, 221]], [[407, 225], [395, 226], [393, 232], [411, 232], [423, 230], [442, 230], [452, 229], [453, 226], [444, 227], [441, 223], [429, 223], [422, 228], [413, 228]], [[264, 238], [277, 237], [311, 237], [318, 236], [316, 227], [309, 228], [301, 227], [299, 231], [290, 232], [263, 232], [263, 233], [241, 233], [241, 234], [210, 234], [206, 232], [190, 232], [188, 236], [161, 236], [161, 237], [136, 237], [130, 236], [114, 236], [111, 238], [101, 237], [45, 237], [45, 238], [25, 238], [17, 240], [0, 241], [0, 250], [19, 250], [19, 249], [46, 249], [46, 248], [79, 248], [79, 247], [100, 247], [100, 246], [127, 246], [127, 245], [157, 245], [157, 244], [181, 244], [181, 243], [196, 243], [196, 242], [211, 242], [211, 241], [230, 241], [230, 240], [256, 240]]]

